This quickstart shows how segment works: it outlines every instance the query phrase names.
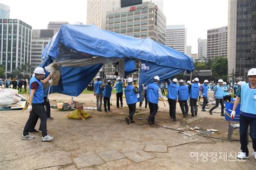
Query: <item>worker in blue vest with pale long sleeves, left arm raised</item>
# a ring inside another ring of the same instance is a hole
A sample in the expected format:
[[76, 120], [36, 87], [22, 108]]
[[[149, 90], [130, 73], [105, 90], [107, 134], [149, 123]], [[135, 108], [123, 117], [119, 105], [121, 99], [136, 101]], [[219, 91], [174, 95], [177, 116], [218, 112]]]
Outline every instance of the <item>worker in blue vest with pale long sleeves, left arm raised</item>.
[[147, 122], [152, 125], [154, 124], [154, 116], [157, 114], [158, 110], [158, 98], [160, 97], [161, 100], [164, 102], [164, 96], [161, 94], [161, 89], [158, 86], [158, 83], [160, 81], [159, 76], [154, 76], [153, 83], [150, 83], [148, 86], [142, 84], [143, 89], [147, 90], [147, 101], [149, 102], [149, 108], [150, 108], [150, 116], [147, 117]]

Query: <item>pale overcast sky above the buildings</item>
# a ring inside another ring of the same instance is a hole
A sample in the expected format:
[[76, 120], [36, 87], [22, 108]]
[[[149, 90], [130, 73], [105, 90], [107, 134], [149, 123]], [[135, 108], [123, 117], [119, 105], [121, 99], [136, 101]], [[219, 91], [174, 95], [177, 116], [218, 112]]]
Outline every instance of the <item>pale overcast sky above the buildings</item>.
[[[21, 19], [32, 29], [47, 29], [49, 22], [86, 24], [86, 0], [0, 0], [10, 6], [10, 18]], [[228, 0], [164, 0], [166, 25], [185, 25], [187, 45], [197, 53], [198, 38], [207, 30], [227, 26]]]

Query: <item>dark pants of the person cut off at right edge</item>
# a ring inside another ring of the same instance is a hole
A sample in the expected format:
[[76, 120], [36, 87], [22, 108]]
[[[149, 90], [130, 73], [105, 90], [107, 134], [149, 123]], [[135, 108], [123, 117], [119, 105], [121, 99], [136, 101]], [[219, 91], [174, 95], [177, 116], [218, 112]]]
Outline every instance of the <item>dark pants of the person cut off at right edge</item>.
[[256, 152], [256, 118], [251, 118], [247, 116], [240, 115], [240, 144], [242, 152], [246, 155], [249, 154], [248, 141], [247, 141], [247, 130], [250, 125], [250, 137], [252, 138], [252, 147], [254, 152]]

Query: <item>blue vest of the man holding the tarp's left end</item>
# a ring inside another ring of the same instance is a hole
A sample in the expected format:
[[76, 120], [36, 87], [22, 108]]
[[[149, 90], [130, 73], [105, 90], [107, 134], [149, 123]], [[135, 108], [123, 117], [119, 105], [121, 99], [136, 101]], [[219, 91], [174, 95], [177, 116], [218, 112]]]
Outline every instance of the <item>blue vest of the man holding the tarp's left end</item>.
[[35, 94], [32, 99], [32, 103], [44, 103], [43, 84], [36, 77], [32, 77], [29, 81], [29, 95], [30, 95], [31, 84], [33, 82], [37, 82], [39, 86], [38, 86], [38, 89], [35, 91]]

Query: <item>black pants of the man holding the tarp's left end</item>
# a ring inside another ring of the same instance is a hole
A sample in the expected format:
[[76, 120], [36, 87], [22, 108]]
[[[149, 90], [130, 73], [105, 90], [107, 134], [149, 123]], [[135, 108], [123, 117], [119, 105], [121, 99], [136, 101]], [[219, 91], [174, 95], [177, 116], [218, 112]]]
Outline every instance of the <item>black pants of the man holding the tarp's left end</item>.
[[32, 111], [30, 112], [29, 119], [26, 122], [25, 128], [23, 130], [23, 135], [26, 136], [29, 134], [29, 131], [31, 130], [31, 127], [35, 128], [35, 123], [37, 122], [38, 117], [41, 119], [40, 128], [42, 130], [42, 136], [45, 137], [47, 135], [46, 130], [46, 121], [47, 116], [44, 109], [43, 103], [33, 104], [32, 103]]

